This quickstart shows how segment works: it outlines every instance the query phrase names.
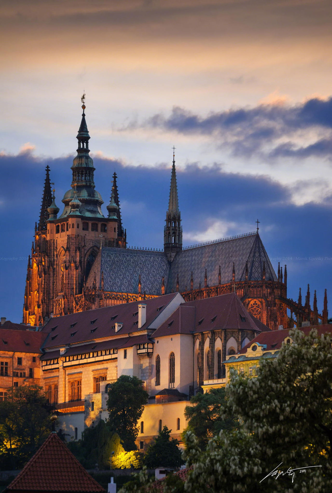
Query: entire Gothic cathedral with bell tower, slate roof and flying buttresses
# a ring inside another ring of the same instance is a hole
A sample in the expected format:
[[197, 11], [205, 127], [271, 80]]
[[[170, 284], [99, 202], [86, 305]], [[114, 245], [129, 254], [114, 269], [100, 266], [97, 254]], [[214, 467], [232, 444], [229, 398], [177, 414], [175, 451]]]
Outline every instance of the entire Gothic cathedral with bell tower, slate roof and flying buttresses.
[[50, 317], [109, 305], [153, 298], [179, 291], [185, 301], [236, 292], [245, 308], [270, 329], [327, 322], [318, 313], [316, 291], [310, 305], [287, 298], [287, 267], [275, 273], [257, 231], [183, 247], [181, 213], [173, 153], [173, 167], [164, 250], [132, 248], [126, 243], [116, 174], [111, 201], [104, 216], [95, 190], [93, 160], [83, 102], [77, 134], [73, 180], [62, 202], [55, 204], [46, 167], [41, 211], [29, 256], [23, 321], [41, 325]]

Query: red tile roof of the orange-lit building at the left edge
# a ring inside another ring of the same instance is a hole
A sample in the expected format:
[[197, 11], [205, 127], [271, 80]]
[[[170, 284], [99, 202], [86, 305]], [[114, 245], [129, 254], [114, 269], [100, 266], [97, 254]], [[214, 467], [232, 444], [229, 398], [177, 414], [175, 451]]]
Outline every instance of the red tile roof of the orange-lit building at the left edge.
[[2, 327], [0, 327], [0, 351], [41, 354], [40, 348], [47, 334], [32, 330], [3, 329]]

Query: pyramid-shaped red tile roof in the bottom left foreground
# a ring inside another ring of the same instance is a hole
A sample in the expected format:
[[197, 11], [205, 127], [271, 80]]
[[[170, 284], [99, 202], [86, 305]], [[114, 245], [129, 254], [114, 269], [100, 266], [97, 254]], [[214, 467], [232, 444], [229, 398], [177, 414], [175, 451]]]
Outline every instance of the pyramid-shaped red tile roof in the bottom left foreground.
[[60, 440], [51, 433], [7, 486], [9, 492], [104, 492]]

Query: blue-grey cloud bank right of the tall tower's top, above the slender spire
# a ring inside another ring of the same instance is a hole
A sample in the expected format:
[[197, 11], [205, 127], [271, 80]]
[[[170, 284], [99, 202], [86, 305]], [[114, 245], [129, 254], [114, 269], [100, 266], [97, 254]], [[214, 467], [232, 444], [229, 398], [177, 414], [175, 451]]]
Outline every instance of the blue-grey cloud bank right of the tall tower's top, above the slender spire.
[[[123, 130], [155, 129], [190, 136], [211, 137], [233, 156], [254, 154], [278, 157], [332, 156], [332, 98], [312, 98], [291, 106], [277, 93], [268, 104], [231, 108], [206, 116], [174, 106], [171, 114], [156, 113], [141, 124], [133, 121]], [[286, 139], [286, 142], [285, 142]], [[312, 142], [301, 145], [298, 142]]]

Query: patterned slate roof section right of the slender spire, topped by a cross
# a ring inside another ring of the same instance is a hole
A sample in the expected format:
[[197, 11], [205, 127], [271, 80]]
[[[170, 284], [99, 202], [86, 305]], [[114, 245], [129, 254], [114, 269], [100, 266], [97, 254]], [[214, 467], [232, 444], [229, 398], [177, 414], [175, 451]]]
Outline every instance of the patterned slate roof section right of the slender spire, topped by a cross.
[[249, 281], [262, 279], [264, 262], [266, 281], [277, 281], [261, 239], [258, 233], [253, 233], [230, 240], [186, 248], [178, 252], [171, 265], [167, 292], [176, 290], [177, 276], [179, 276], [179, 291], [184, 292], [190, 289], [191, 272], [193, 289], [203, 287], [205, 269], [208, 286], [216, 286], [219, 282], [219, 266], [221, 266], [221, 284], [232, 282], [233, 262], [235, 281], [245, 280], [246, 262], [248, 263]]

